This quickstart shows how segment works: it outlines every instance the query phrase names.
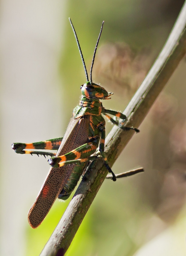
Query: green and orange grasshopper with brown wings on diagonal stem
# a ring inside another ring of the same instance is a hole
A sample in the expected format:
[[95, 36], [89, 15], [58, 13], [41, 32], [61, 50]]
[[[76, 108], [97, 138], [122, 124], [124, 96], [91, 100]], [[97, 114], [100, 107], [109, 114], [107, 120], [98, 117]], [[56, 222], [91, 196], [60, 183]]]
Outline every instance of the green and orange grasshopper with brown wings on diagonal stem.
[[[100, 100], [111, 99], [110, 96], [113, 95], [113, 93], [108, 93], [99, 84], [92, 82], [92, 67], [94, 65], [96, 50], [104, 22], [102, 23], [96, 43], [89, 80], [78, 37], [70, 18], [69, 20], [78, 44], [87, 80], [87, 82], [80, 87], [82, 93], [80, 103], [73, 110], [72, 117], [63, 138], [35, 143], [12, 144], [13, 150], [18, 154], [51, 156], [48, 162], [52, 167], [39, 191], [36, 201], [28, 213], [28, 221], [32, 228], [37, 228], [41, 224], [57, 197], [66, 200], [70, 196], [80, 176], [88, 165], [90, 165], [89, 169], [91, 170], [95, 163], [94, 160], [97, 158], [97, 156], [93, 154], [96, 152], [98, 146], [104, 158], [104, 165], [108, 172], [112, 173], [112, 180], [116, 181], [116, 176], [109, 167], [108, 160], [104, 154], [105, 119], [102, 115], [123, 130], [132, 129], [139, 132], [139, 130], [134, 127], [123, 126], [126, 121], [124, 114], [107, 110], [103, 107]], [[121, 118], [122, 122], [119, 123], [117, 119], [111, 118], [108, 114]], [[34, 150], [32, 151], [32, 149]], [[57, 153], [39, 150], [57, 150]]]

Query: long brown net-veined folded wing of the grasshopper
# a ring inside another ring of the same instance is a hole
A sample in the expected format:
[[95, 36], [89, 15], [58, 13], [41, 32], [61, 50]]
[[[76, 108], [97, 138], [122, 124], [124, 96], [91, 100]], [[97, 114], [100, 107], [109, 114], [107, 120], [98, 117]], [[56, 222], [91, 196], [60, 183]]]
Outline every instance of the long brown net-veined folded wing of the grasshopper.
[[[64, 155], [85, 144], [88, 139], [88, 125], [88, 115], [78, 119], [71, 117], [56, 156]], [[50, 168], [36, 201], [28, 213], [28, 221], [32, 228], [37, 228], [44, 220], [69, 179], [74, 167], [75, 164]]]

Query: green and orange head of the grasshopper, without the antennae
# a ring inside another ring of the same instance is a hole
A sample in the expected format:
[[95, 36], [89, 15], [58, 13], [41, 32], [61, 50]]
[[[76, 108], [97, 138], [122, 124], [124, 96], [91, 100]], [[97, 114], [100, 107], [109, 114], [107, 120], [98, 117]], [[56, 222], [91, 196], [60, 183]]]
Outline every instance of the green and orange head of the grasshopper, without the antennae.
[[103, 87], [98, 84], [86, 82], [81, 87], [81, 93], [87, 99], [109, 100], [108, 98], [113, 93], [108, 93]]

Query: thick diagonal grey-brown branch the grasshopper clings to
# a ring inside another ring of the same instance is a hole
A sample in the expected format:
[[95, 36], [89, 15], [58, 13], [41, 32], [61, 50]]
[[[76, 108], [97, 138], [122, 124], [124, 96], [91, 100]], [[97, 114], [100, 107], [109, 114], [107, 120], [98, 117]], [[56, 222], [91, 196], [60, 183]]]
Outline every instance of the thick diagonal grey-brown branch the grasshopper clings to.
[[[169, 38], [142, 84], [126, 106], [126, 126], [138, 127], [162, 91], [172, 73], [186, 53], [186, 3], [169, 35]], [[106, 137], [105, 153], [112, 166], [132, 138], [134, 131], [123, 131], [114, 126]], [[137, 136], [137, 135], [136, 135]], [[40, 256], [62, 256], [67, 251], [75, 233], [101, 187], [107, 170], [103, 159], [96, 160], [86, 182], [81, 182], [60, 222], [52, 233]]]

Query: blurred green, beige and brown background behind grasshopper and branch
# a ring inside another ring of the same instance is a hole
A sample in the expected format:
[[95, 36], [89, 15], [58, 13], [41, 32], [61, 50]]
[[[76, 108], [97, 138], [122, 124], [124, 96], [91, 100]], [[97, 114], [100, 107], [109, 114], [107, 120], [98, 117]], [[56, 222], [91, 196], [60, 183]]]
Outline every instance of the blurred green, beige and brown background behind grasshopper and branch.
[[[183, 0], [1, 0], [0, 255], [37, 256], [69, 200], [56, 200], [35, 230], [27, 213], [48, 173], [44, 157], [15, 154], [13, 142], [63, 136], [85, 74], [68, 17], [90, 69], [102, 21], [93, 80], [122, 111], [142, 82]], [[186, 62], [113, 166], [145, 173], [105, 180], [67, 256], [186, 254]], [[107, 124], [107, 132], [112, 128]]]

